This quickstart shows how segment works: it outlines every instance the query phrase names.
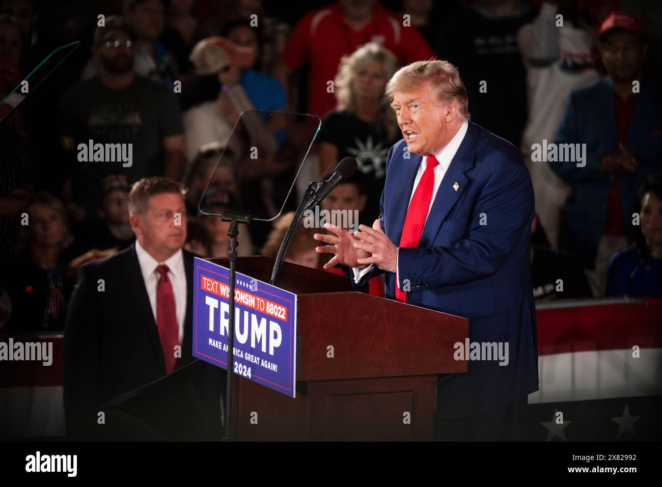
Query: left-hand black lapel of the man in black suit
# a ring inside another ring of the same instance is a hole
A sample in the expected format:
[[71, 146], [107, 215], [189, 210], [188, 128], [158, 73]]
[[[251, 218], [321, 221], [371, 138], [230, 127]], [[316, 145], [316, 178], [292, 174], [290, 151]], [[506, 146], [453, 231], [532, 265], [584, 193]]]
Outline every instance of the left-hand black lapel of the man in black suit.
[[[152, 305], [150, 297], [145, 288], [145, 280], [140, 271], [140, 263], [138, 262], [138, 254], [136, 254], [136, 244], [131, 246], [131, 251], [128, 253], [128, 265], [122, 266], [122, 273], [124, 274], [124, 281], [127, 284], [128, 290], [131, 294], [131, 299], [136, 304], [137, 323], [138, 326], [144, 327], [150, 343], [152, 343], [152, 350], [154, 351], [154, 358], [158, 361], [163, 368], [164, 375], [166, 374], [166, 361], [164, 359], [164, 352], [161, 347], [161, 339], [159, 338], [159, 331], [152, 313]], [[122, 303], [118, 303], [122, 305]]]

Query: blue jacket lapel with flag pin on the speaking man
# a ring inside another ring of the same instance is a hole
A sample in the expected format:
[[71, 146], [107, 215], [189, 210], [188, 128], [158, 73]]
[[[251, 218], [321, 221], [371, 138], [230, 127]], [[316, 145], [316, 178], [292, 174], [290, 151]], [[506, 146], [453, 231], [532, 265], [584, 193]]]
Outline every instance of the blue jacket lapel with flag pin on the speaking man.
[[[427, 248], [432, 246], [434, 239], [439, 232], [442, 223], [446, 219], [449, 211], [453, 208], [462, 193], [469, 185], [469, 178], [464, 173], [473, 167], [476, 144], [479, 136], [479, 129], [474, 123], [469, 122], [467, 133], [465, 134], [453, 160], [451, 160], [442, 184], [434, 197], [434, 203], [430, 209], [430, 215], [423, 227], [423, 233], [420, 236], [418, 246]], [[457, 190], [454, 188], [458, 184]]]

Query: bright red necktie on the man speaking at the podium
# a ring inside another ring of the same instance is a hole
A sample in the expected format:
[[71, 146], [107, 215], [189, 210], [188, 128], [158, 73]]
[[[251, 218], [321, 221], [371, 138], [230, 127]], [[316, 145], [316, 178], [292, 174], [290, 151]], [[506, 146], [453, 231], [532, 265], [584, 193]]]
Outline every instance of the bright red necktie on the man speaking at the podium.
[[[404, 226], [400, 237], [401, 247], [417, 247], [420, 241], [420, 235], [423, 233], [425, 218], [430, 209], [430, 200], [434, 190], [434, 168], [439, 164], [435, 156], [428, 156], [425, 163], [425, 171], [418, 181], [418, 186], [414, 190], [412, 200], [409, 202], [406, 217], [404, 217]], [[402, 276], [399, 276], [402, 277]], [[407, 277], [404, 276], [406, 279]], [[395, 299], [406, 303], [407, 293], [401, 291], [395, 284]]]

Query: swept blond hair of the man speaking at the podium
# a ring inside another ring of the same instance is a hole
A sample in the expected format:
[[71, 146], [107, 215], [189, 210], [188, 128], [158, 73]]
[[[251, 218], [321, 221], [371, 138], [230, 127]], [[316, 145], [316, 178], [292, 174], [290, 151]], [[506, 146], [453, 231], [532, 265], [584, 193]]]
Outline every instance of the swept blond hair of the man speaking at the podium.
[[400, 68], [386, 83], [385, 101], [391, 103], [397, 91], [409, 91], [422, 83], [431, 83], [439, 101], [457, 103], [458, 112], [465, 120], [471, 118], [469, 97], [457, 68], [448, 61], [416, 61]]

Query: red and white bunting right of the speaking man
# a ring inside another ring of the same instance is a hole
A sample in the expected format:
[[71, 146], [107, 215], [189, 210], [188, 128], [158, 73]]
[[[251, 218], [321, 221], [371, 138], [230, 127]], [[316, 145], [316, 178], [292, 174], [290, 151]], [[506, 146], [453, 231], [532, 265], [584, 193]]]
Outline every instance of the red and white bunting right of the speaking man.
[[662, 299], [540, 303], [529, 404], [662, 394]]

